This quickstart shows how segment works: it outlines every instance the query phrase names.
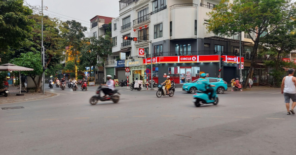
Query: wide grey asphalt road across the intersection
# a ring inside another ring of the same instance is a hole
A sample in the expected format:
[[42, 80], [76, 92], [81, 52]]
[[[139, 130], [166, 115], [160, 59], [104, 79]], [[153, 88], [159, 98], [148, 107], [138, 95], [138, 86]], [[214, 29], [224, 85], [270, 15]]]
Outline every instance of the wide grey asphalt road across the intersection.
[[1, 155], [294, 155], [296, 116], [280, 90], [225, 92], [196, 108], [192, 94], [120, 90], [90, 105], [89, 91], [1, 104]]

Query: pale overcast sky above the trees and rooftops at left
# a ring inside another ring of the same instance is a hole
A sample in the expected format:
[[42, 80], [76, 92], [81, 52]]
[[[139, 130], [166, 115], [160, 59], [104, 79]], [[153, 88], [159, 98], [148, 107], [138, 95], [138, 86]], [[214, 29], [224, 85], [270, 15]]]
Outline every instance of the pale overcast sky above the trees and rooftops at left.
[[[41, 6], [41, 0], [27, 2]], [[96, 15], [113, 18], [119, 16], [119, 0], [43, 0], [43, 6], [48, 7], [48, 11], [44, 11], [45, 15], [62, 21], [76, 20], [87, 28], [90, 27], [89, 20]]]

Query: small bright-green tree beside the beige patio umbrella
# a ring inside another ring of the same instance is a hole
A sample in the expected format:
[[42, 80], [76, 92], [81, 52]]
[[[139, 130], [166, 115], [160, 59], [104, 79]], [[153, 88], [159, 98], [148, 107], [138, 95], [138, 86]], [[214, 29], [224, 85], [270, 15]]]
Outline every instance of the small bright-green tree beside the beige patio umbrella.
[[40, 92], [39, 86], [41, 82], [41, 76], [39, 76], [37, 81], [35, 79], [37, 75], [41, 75], [41, 73], [43, 72], [43, 68], [40, 62], [40, 52], [22, 53], [19, 58], [11, 60], [11, 63], [13, 64], [34, 69], [33, 71], [21, 71], [21, 73], [28, 75], [33, 79], [36, 86], [35, 92]]

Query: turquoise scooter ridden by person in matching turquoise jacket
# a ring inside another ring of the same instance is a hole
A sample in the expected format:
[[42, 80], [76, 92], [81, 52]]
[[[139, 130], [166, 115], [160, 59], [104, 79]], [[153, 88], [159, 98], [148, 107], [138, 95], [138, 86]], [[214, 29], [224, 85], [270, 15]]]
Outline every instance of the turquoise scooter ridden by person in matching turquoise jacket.
[[204, 93], [202, 91], [195, 91], [192, 99], [192, 102], [194, 103], [194, 105], [196, 107], [199, 107], [202, 104], [212, 104], [212, 103], [214, 105], [217, 105], [219, 102], [219, 98], [216, 93], [217, 88], [213, 87], [213, 89], [214, 89], [213, 96], [215, 96], [214, 99], [210, 99], [209, 93]]

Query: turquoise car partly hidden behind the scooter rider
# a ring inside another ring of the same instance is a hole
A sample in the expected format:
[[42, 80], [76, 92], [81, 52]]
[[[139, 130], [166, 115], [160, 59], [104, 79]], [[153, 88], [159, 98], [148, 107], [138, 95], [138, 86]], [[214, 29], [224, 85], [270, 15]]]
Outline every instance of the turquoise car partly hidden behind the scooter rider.
[[[217, 88], [217, 93], [224, 93], [227, 91], [227, 82], [222, 78], [210, 78], [206, 77], [209, 83], [213, 84]], [[185, 83], [182, 87], [182, 90], [187, 93], [195, 93], [197, 91], [197, 80], [192, 81], [191, 83]]]

